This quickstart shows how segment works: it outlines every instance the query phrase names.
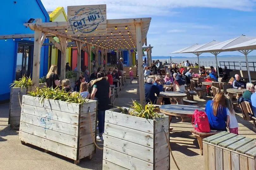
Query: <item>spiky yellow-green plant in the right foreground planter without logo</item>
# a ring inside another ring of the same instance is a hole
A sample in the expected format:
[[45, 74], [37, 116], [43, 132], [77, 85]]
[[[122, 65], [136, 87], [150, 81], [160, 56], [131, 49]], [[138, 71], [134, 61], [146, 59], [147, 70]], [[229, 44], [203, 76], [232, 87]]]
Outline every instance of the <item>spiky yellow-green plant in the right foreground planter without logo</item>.
[[[127, 110], [126, 108], [117, 107], [121, 110], [121, 113], [130, 114], [137, 117], [142, 117], [146, 119], [158, 119], [161, 118], [163, 115], [158, 114], [155, 112], [155, 106], [150, 102], [143, 107], [140, 103], [136, 100], [132, 100], [132, 105]], [[131, 111], [130, 111], [131, 110]]]

